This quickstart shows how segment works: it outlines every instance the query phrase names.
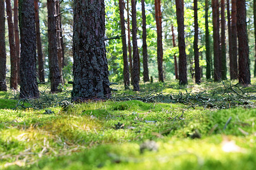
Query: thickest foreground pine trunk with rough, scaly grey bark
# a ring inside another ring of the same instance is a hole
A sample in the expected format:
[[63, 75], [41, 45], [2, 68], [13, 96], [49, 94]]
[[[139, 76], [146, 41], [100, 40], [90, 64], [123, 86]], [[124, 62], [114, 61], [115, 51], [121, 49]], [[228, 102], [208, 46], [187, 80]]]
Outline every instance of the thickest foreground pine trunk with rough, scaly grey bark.
[[72, 97], [110, 97], [104, 0], [75, 0], [73, 30]]

